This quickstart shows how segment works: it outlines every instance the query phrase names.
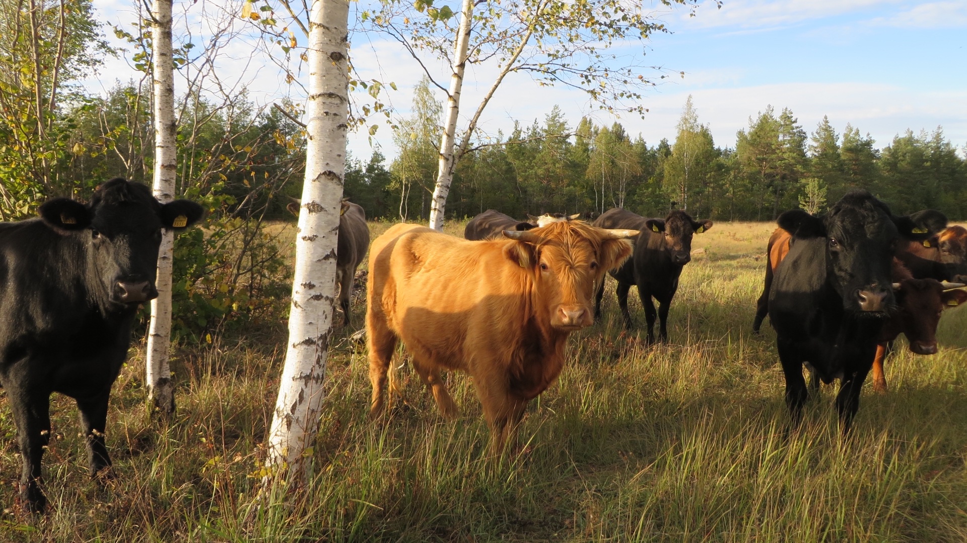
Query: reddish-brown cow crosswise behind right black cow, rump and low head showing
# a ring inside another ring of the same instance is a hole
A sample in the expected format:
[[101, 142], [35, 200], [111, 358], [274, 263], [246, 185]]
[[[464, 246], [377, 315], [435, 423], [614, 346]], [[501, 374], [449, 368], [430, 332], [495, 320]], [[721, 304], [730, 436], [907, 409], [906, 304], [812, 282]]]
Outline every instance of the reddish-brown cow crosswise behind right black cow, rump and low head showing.
[[[792, 236], [777, 228], [769, 238], [766, 260], [766, 280], [762, 296], [759, 297], [752, 329], [756, 332], [762, 326], [763, 318], [769, 311], [769, 290], [773, 273], [789, 252]], [[919, 243], [919, 242], [918, 242]], [[896, 307], [881, 329], [876, 357], [873, 359], [873, 389], [885, 391], [887, 381], [883, 375], [883, 360], [889, 354], [889, 345], [900, 333], [907, 336], [909, 349], [917, 355], [933, 355], [937, 352], [937, 324], [945, 307], [952, 307], [967, 300], [967, 292], [959, 290], [962, 283], [940, 282], [936, 279], [916, 279], [902, 261], [894, 258], [891, 270], [894, 280]], [[819, 386], [815, 377], [813, 386]]]

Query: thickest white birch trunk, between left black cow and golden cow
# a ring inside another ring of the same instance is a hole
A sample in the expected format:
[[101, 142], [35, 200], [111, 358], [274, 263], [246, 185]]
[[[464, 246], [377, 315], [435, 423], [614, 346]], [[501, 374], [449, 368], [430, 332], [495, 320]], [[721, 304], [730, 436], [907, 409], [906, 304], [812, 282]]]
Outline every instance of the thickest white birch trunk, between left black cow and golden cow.
[[304, 472], [315, 439], [336, 295], [345, 172], [348, 0], [312, 0], [308, 32], [306, 181], [296, 234], [289, 340], [268, 438], [270, 467]]

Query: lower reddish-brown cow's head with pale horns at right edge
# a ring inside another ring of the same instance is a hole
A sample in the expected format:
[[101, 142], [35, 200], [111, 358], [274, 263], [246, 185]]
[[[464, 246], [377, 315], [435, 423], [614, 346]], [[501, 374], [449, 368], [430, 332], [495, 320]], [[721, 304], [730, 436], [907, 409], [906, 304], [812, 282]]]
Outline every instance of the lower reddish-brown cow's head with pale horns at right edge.
[[900, 329], [909, 340], [910, 351], [918, 355], [937, 352], [937, 324], [944, 309], [967, 301], [963, 283], [940, 282], [936, 279], [904, 279], [894, 283], [896, 311]]

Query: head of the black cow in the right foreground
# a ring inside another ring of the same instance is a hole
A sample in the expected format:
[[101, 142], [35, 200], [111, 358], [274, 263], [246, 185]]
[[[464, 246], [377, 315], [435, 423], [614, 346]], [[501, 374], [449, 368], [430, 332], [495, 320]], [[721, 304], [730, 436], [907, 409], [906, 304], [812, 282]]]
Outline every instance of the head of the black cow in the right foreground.
[[895, 216], [865, 190], [852, 190], [820, 216], [793, 210], [779, 215], [780, 228], [796, 239], [826, 240], [827, 281], [847, 311], [885, 316], [894, 303], [891, 266], [897, 241], [929, 238], [947, 217], [926, 210]]

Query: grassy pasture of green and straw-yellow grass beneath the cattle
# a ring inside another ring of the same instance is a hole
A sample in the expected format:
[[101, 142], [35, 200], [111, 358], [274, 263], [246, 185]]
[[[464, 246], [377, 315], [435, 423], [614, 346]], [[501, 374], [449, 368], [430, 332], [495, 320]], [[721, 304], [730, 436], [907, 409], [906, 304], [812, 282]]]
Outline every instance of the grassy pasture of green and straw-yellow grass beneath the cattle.
[[[387, 226], [372, 223], [373, 237]], [[170, 421], [146, 410], [137, 345], [114, 386], [116, 478], [104, 489], [88, 479], [73, 402], [55, 396], [42, 519], [17, 510], [15, 427], [0, 401], [0, 540], [967, 540], [967, 313], [944, 316], [938, 355], [897, 343], [890, 390], [867, 383], [850, 438], [837, 431], [833, 386], [788, 433], [774, 334], [750, 332], [773, 228], [718, 223], [695, 237], [704, 250], [683, 272], [668, 345], [646, 348], [622, 329], [608, 279], [603, 318], [571, 336], [560, 380], [531, 403], [503, 460], [487, 456], [462, 374], [448, 377], [457, 421], [403, 371], [408, 408], [367, 423], [365, 348], [347, 339], [363, 326], [362, 299], [333, 342], [310, 480], [273, 494], [256, 494], [258, 451], [284, 323], [181, 346]], [[643, 323], [633, 292], [631, 308]]]

